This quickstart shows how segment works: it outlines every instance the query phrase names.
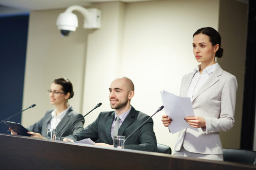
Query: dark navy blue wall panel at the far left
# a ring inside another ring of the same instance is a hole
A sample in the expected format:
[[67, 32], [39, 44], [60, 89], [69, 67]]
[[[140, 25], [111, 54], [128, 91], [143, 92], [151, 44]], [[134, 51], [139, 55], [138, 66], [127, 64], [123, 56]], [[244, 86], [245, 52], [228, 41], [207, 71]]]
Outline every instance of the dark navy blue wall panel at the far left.
[[[0, 120], [22, 110], [29, 15], [0, 17]], [[21, 114], [10, 121], [20, 123]], [[0, 133], [8, 133], [0, 124]]]

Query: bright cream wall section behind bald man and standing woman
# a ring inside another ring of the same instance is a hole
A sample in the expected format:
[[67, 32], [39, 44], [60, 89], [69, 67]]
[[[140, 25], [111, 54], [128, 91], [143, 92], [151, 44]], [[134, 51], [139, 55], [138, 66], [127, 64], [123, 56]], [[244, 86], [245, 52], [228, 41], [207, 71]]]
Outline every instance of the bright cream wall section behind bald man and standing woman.
[[[204, 26], [218, 28], [219, 0], [112, 2], [94, 7], [102, 10], [104, 21], [102, 28], [88, 36], [83, 112], [98, 102], [103, 104], [88, 115], [86, 125], [99, 111], [110, 110], [108, 88], [118, 76], [134, 82], [132, 106], [152, 115], [162, 105], [160, 90], [179, 95], [182, 76], [197, 65], [192, 53], [194, 31]], [[200, 11], [192, 10], [196, 8]], [[163, 127], [162, 114], [153, 117], [157, 141], [174, 148], [177, 134]]]

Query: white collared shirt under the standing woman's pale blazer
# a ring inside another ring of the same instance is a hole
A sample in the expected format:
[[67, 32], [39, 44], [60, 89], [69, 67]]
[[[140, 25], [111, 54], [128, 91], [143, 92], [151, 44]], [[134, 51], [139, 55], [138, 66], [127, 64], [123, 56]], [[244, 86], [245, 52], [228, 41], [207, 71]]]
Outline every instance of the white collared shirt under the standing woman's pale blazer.
[[199, 72], [201, 64], [198, 65], [194, 69], [194, 71], [193, 71], [194, 76], [191, 80], [191, 83], [188, 87], [188, 92], [187, 92], [187, 96], [188, 96], [188, 98], [190, 98], [191, 102], [193, 101], [193, 97], [196, 94], [196, 92], [198, 92], [198, 90], [201, 88], [201, 86], [210, 77], [212, 72], [214, 72], [214, 70], [216, 70], [218, 65], [219, 65], [218, 63], [215, 63], [215, 64], [212, 64], [211, 66], [206, 67], [202, 71], [202, 74], [200, 74], [200, 72]]

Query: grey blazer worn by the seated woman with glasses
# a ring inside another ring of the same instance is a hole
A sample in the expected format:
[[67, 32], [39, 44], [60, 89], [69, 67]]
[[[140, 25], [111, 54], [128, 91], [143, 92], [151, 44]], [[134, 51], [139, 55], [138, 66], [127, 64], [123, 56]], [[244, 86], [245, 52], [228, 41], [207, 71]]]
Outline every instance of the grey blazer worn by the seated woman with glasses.
[[[31, 125], [28, 127], [28, 131], [40, 133], [43, 137], [46, 137], [46, 128], [49, 121], [52, 119], [52, 110], [46, 111], [44, 117], [36, 122], [34, 125]], [[83, 115], [80, 113], [77, 113], [73, 110], [72, 107], [70, 107], [64, 115], [64, 117], [61, 119], [60, 123], [57, 125], [57, 134], [56, 137], [59, 137], [68, 127], [70, 127], [75, 121], [78, 121], [78, 119], [81, 119]], [[68, 136], [70, 134], [74, 134], [82, 129], [84, 126], [84, 119], [76, 123], [72, 128], [70, 128], [68, 131], [66, 131], [62, 136]]]

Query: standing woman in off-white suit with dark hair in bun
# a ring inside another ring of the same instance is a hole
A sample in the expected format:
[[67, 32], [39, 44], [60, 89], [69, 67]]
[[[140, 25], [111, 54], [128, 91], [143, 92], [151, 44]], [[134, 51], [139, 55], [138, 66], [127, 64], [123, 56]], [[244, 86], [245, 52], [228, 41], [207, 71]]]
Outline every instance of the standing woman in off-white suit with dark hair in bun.
[[[194, 117], [186, 122], [199, 132], [184, 129], [178, 133], [174, 155], [223, 160], [219, 132], [234, 125], [236, 105], [236, 77], [220, 67], [215, 57], [222, 57], [223, 49], [218, 31], [212, 27], [198, 29], [193, 35], [193, 53], [199, 64], [193, 72], [182, 78], [181, 97], [189, 97]], [[162, 116], [165, 127], [172, 120]]]

